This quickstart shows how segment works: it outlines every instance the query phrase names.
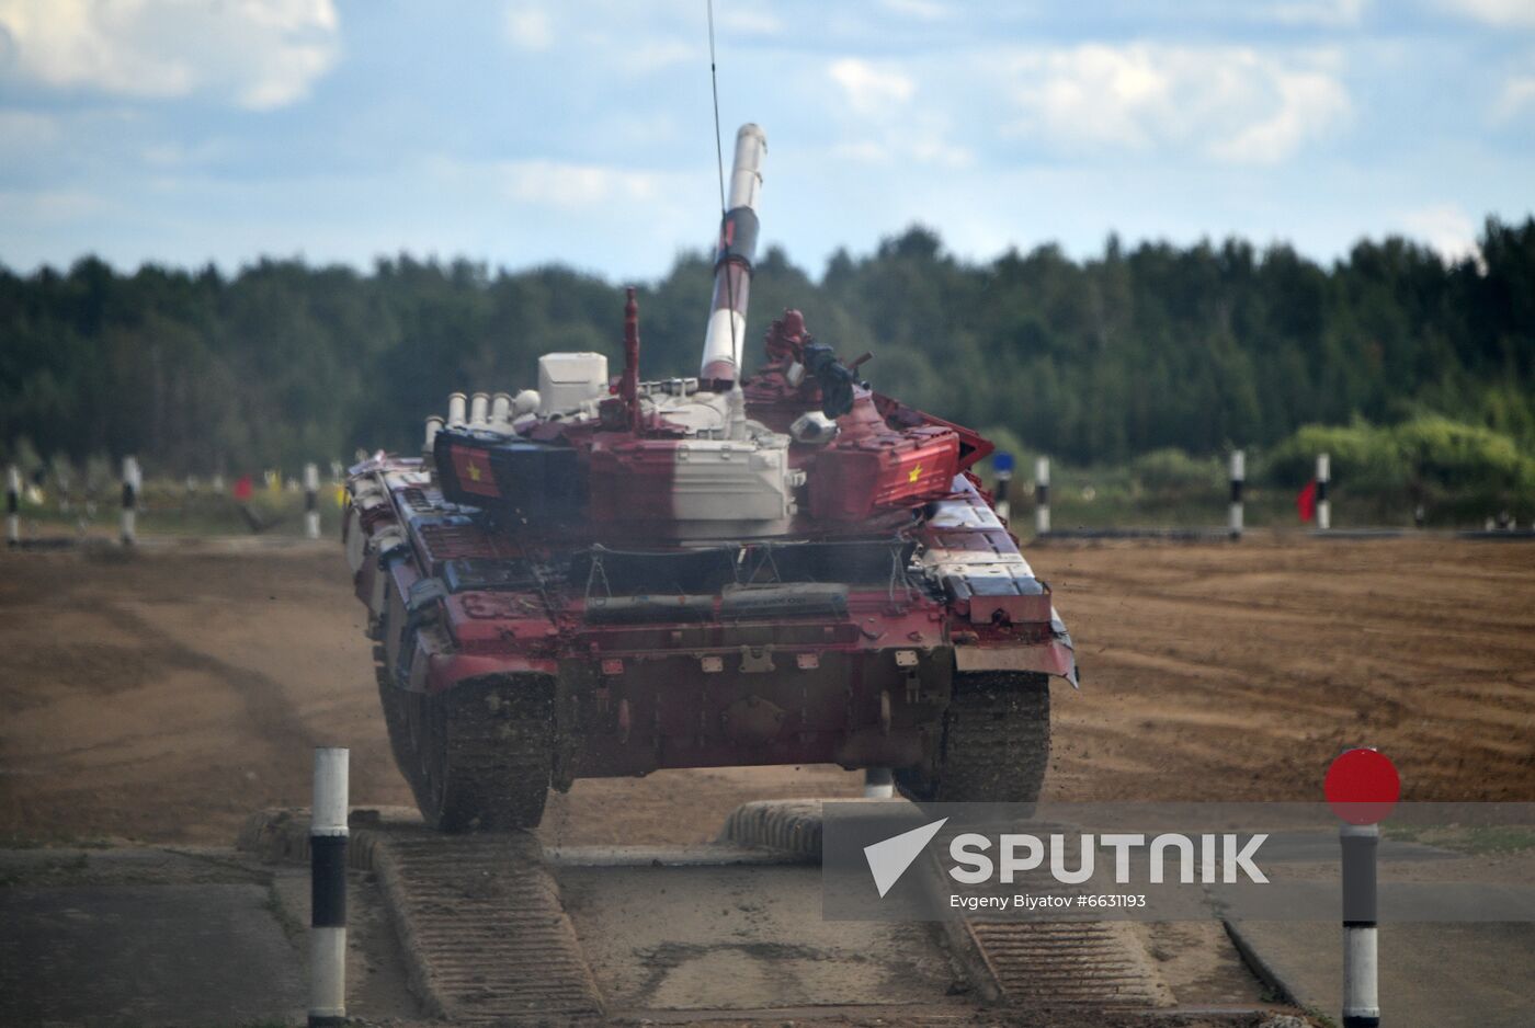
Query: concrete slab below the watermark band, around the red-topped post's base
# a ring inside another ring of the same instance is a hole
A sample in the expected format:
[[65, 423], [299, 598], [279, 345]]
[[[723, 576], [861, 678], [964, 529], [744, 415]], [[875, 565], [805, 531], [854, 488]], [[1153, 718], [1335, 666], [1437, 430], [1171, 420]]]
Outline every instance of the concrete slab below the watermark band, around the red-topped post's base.
[[[1245, 921], [1234, 934], [1299, 1005], [1339, 1020], [1340, 925]], [[1380, 1010], [1394, 1028], [1535, 1025], [1535, 924], [1380, 925]]]

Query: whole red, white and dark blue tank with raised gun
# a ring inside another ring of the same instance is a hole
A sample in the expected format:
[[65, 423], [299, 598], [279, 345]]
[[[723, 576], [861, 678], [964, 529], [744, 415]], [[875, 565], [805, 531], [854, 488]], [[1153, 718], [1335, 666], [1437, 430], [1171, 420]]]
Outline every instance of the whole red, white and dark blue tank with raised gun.
[[764, 155], [741, 127], [695, 376], [642, 374], [631, 288], [617, 374], [545, 354], [536, 390], [473, 384], [503, 391], [348, 473], [384, 718], [441, 830], [533, 827], [550, 789], [666, 767], [1039, 793], [1076, 663], [973, 471], [992, 443], [875, 391], [797, 310], [743, 374]]

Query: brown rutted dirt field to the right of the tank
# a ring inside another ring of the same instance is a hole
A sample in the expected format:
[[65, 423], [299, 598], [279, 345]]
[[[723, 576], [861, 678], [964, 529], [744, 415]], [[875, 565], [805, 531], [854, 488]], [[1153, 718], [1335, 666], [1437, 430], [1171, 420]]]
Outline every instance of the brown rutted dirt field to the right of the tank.
[[[1062, 798], [1312, 798], [1345, 744], [1415, 799], [1535, 796], [1535, 549], [1047, 548], [1084, 669]], [[1048, 786], [1047, 786], [1048, 787]]]

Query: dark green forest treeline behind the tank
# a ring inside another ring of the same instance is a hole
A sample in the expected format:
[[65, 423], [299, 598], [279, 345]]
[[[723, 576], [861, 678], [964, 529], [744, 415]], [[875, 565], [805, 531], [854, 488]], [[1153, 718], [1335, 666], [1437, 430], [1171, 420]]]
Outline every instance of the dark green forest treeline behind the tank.
[[[709, 279], [682, 255], [640, 290], [643, 374], [695, 373]], [[873, 351], [875, 388], [1068, 462], [1423, 419], [1535, 450], [1535, 219], [1489, 219], [1458, 264], [1400, 238], [1331, 265], [1116, 238], [1085, 261], [1042, 245], [975, 264], [913, 227], [812, 278], [769, 250], [749, 364], [791, 305], [844, 357]], [[411, 450], [447, 393], [533, 385], [540, 353], [600, 350], [617, 370], [622, 308], [617, 284], [565, 267], [410, 256], [0, 272], [0, 443], [173, 474]]]

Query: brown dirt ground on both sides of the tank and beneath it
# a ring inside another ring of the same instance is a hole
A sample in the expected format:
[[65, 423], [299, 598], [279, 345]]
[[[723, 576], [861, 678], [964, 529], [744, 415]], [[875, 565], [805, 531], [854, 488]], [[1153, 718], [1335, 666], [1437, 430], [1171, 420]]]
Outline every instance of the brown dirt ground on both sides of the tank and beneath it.
[[[1078, 640], [1056, 689], [1062, 799], [1312, 799], [1368, 743], [1409, 799], [1535, 799], [1535, 546], [1444, 540], [1105, 545], [1030, 554]], [[341, 557], [158, 549], [0, 557], [0, 835], [227, 844], [307, 802], [408, 804]], [[853, 795], [838, 769], [577, 783], [545, 835], [709, 838], [737, 802]]]

